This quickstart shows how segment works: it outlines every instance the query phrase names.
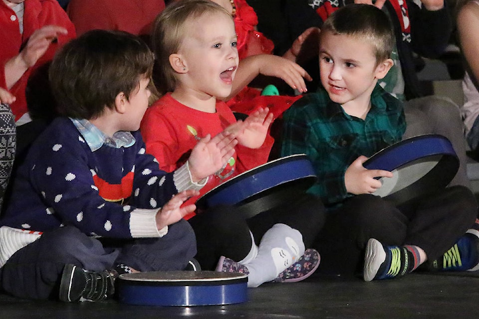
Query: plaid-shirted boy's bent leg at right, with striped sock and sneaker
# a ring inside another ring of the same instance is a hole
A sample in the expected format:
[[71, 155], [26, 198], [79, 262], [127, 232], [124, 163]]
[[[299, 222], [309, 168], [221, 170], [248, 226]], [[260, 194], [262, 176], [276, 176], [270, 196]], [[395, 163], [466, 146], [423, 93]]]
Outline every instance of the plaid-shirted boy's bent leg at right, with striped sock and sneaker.
[[[477, 203], [468, 188], [454, 186], [403, 205], [401, 211], [410, 216], [404, 244], [383, 246], [381, 241], [370, 239], [365, 255], [364, 280], [395, 278], [408, 274], [426, 262], [428, 256], [438, 256], [438, 251], [445, 251], [446, 247], [453, 246], [476, 217]], [[475, 243], [474, 247], [467, 245], [467, 236], [472, 235], [467, 234], [459, 244], [464, 249], [463, 256], [471, 259], [465, 259], [465, 262], [468, 267], [472, 267], [473, 263], [477, 263], [477, 244]], [[454, 245], [453, 249], [455, 247], [458, 245]], [[474, 256], [471, 254], [472, 248]], [[447, 258], [460, 258], [456, 254], [445, 255]]]

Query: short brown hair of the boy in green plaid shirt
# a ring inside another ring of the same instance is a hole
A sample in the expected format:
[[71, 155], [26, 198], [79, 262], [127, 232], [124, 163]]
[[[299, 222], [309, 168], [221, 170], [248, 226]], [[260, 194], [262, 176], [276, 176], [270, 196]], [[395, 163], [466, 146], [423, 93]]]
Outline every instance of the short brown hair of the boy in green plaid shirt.
[[375, 49], [376, 64], [390, 58], [394, 48], [391, 21], [374, 5], [351, 3], [339, 8], [321, 26], [321, 33], [326, 31], [368, 41]]

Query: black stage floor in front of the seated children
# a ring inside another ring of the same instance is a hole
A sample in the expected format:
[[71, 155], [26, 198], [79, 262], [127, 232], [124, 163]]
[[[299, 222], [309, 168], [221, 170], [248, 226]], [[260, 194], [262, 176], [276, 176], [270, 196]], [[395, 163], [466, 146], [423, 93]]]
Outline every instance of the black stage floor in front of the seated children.
[[64, 304], [0, 295], [0, 319], [477, 319], [479, 278], [477, 273], [422, 273], [366, 283], [359, 278], [313, 275], [300, 283], [248, 289], [248, 299], [227, 306], [154, 307], [116, 301]]

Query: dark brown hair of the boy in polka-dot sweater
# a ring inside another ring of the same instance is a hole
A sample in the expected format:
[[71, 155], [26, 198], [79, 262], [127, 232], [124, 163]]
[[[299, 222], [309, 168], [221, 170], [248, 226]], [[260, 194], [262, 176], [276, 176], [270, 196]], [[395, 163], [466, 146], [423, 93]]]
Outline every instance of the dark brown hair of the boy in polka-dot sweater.
[[91, 30], [65, 44], [55, 55], [49, 81], [58, 113], [95, 119], [127, 98], [142, 78], [150, 78], [153, 53], [139, 37], [123, 31]]

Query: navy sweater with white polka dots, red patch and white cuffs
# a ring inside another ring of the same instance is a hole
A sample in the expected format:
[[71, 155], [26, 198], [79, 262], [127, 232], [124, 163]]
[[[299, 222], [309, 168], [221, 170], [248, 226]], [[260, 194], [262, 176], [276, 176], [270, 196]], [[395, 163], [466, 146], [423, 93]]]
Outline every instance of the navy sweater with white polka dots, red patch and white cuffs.
[[[34, 142], [14, 180], [0, 225], [48, 231], [74, 225], [88, 235], [158, 237], [155, 214], [192, 185], [188, 169], [166, 173], [145, 153], [139, 132], [131, 147], [92, 152], [68, 118]], [[185, 181], [188, 180], [188, 181]]]

